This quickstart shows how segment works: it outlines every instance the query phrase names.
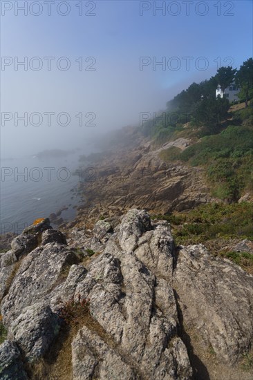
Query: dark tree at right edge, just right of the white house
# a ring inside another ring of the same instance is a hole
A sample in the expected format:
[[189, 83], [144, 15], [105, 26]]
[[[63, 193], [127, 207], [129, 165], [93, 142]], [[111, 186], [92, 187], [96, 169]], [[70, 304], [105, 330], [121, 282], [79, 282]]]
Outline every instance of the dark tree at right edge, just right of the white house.
[[245, 107], [252, 96], [253, 91], [253, 59], [243, 62], [240, 70], [236, 73], [236, 84], [241, 88], [240, 99], [245, 99]]

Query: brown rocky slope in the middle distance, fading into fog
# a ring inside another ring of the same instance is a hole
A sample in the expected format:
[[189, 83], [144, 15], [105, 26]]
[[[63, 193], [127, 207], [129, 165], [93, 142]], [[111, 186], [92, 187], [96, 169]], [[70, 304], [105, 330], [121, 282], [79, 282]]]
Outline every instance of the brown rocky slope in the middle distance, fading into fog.
[[153, 149], [150, 143], [142, 142], [91, 163], [91, 178], [79, 175], [85, 202], [78, 208], [77, 221], [83, 222], [87, 214], [90, 221], [120, 216], [133, 207], [167, 213], [212, 201], [204, 169], [165, 163], [160, 158], [163, 149], [185, 149], [187, 144], [189, 140], [178, 139]]

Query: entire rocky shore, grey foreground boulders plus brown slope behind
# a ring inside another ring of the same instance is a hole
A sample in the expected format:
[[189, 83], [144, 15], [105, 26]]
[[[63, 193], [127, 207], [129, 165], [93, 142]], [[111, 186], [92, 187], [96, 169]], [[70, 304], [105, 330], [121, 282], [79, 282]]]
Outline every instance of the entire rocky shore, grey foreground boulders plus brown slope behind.
[[167, 145], [98, 155], [75, 220], [1, 236], [1, 379], [252, 379], [253, 276], [150, 217], [218, 202]]

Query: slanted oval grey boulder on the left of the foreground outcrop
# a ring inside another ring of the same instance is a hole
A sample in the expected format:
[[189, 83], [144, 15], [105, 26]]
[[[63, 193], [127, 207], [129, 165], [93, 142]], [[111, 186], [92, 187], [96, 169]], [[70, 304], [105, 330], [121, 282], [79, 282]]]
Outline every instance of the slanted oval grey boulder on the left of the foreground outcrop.
[[24, 307], [48, 296], [59, 284], [64, 270], [78, 261], [73, 251], [57, 243], [37, 247], [24, 257], [9, 292], [1, 303], [4, 323], [10, 325]]

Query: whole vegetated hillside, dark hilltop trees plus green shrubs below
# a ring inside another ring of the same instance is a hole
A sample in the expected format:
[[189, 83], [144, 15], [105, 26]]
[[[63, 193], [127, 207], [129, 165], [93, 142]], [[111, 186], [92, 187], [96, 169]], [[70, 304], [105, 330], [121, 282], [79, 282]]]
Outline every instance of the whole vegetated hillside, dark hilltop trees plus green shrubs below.
[[[230, 111], [227, 98], [216, 98], [218, 84], [224, 91], [232, 82], [241, 88], [238, 94], [245, 108]], [[167, 102], [166, 120], [149, 120], [142, 133], [153, 137], [157, 146], [178, 137], [189, 137], [191, 146], [184, 151], [172, 146], [160, 153], [165, 161], [204, 166], [217, 198], [235, 202], [243, 191], [252, 192], [253, 153], [253, 59], [239, 70], [221, 67], [216, 75]]]

